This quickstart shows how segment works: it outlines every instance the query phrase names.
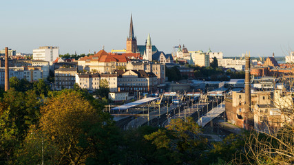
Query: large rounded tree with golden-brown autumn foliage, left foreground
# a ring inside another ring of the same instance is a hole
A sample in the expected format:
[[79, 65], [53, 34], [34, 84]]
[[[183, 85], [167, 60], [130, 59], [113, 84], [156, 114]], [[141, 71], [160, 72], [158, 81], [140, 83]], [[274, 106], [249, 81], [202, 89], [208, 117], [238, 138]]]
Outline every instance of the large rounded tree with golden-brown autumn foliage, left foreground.
[[98, 110], [78, 91], [64, 90], [49, 98], [41, 107], [41, 113], [41, 131], [56, 144], [59, 161], [63, 164], [85, 163], [93, 148], [79, 146], [78, 142], [85, 134], [84, 124], [103, 123]]

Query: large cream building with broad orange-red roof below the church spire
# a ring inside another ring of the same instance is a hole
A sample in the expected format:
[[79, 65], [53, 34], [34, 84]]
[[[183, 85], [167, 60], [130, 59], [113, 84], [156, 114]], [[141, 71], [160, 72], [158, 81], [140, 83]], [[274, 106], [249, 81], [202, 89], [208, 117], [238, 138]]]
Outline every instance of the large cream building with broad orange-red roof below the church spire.
[[89, 72], [113, 73], [117, 67], [125, 67], [129, 58], [125, 55], [109, 55], [104, 50], [93, 56], [85, 56], [78, 60], [78, 70]]

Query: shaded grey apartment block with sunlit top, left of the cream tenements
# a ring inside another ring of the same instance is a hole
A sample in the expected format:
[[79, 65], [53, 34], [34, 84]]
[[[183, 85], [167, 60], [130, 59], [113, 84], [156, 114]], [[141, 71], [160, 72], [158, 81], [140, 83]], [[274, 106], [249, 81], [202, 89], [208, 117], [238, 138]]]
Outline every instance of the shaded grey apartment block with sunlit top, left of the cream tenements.
[[54, 71], [54, 89], [73, 89], [76, 83], [77, 68], [59, 68]]

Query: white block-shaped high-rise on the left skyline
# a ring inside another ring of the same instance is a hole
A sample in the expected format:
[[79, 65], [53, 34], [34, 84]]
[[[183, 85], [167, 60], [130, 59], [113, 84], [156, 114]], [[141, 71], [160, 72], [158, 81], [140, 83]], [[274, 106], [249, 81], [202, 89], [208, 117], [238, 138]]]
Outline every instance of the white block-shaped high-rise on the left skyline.
[[34, 61], [49, 61], [52, 63], [59, 57], [59, 47], [43, 46], [38, 50], [32, 51], [32, 59]]

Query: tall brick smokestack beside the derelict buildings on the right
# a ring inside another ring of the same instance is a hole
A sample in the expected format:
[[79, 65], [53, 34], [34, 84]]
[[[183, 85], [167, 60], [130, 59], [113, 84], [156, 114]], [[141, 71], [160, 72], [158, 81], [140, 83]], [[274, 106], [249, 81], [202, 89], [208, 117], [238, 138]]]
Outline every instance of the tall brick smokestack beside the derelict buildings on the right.
[[[245, 55], [245, 104], [244, 109], [246, 113], [246, 120], [249, 117], [249, 113], [251, 113], [251, 91], [250, 91], [250, 53]], [[249, 129], [249, 123], [246, 121], [247, 128]]]

